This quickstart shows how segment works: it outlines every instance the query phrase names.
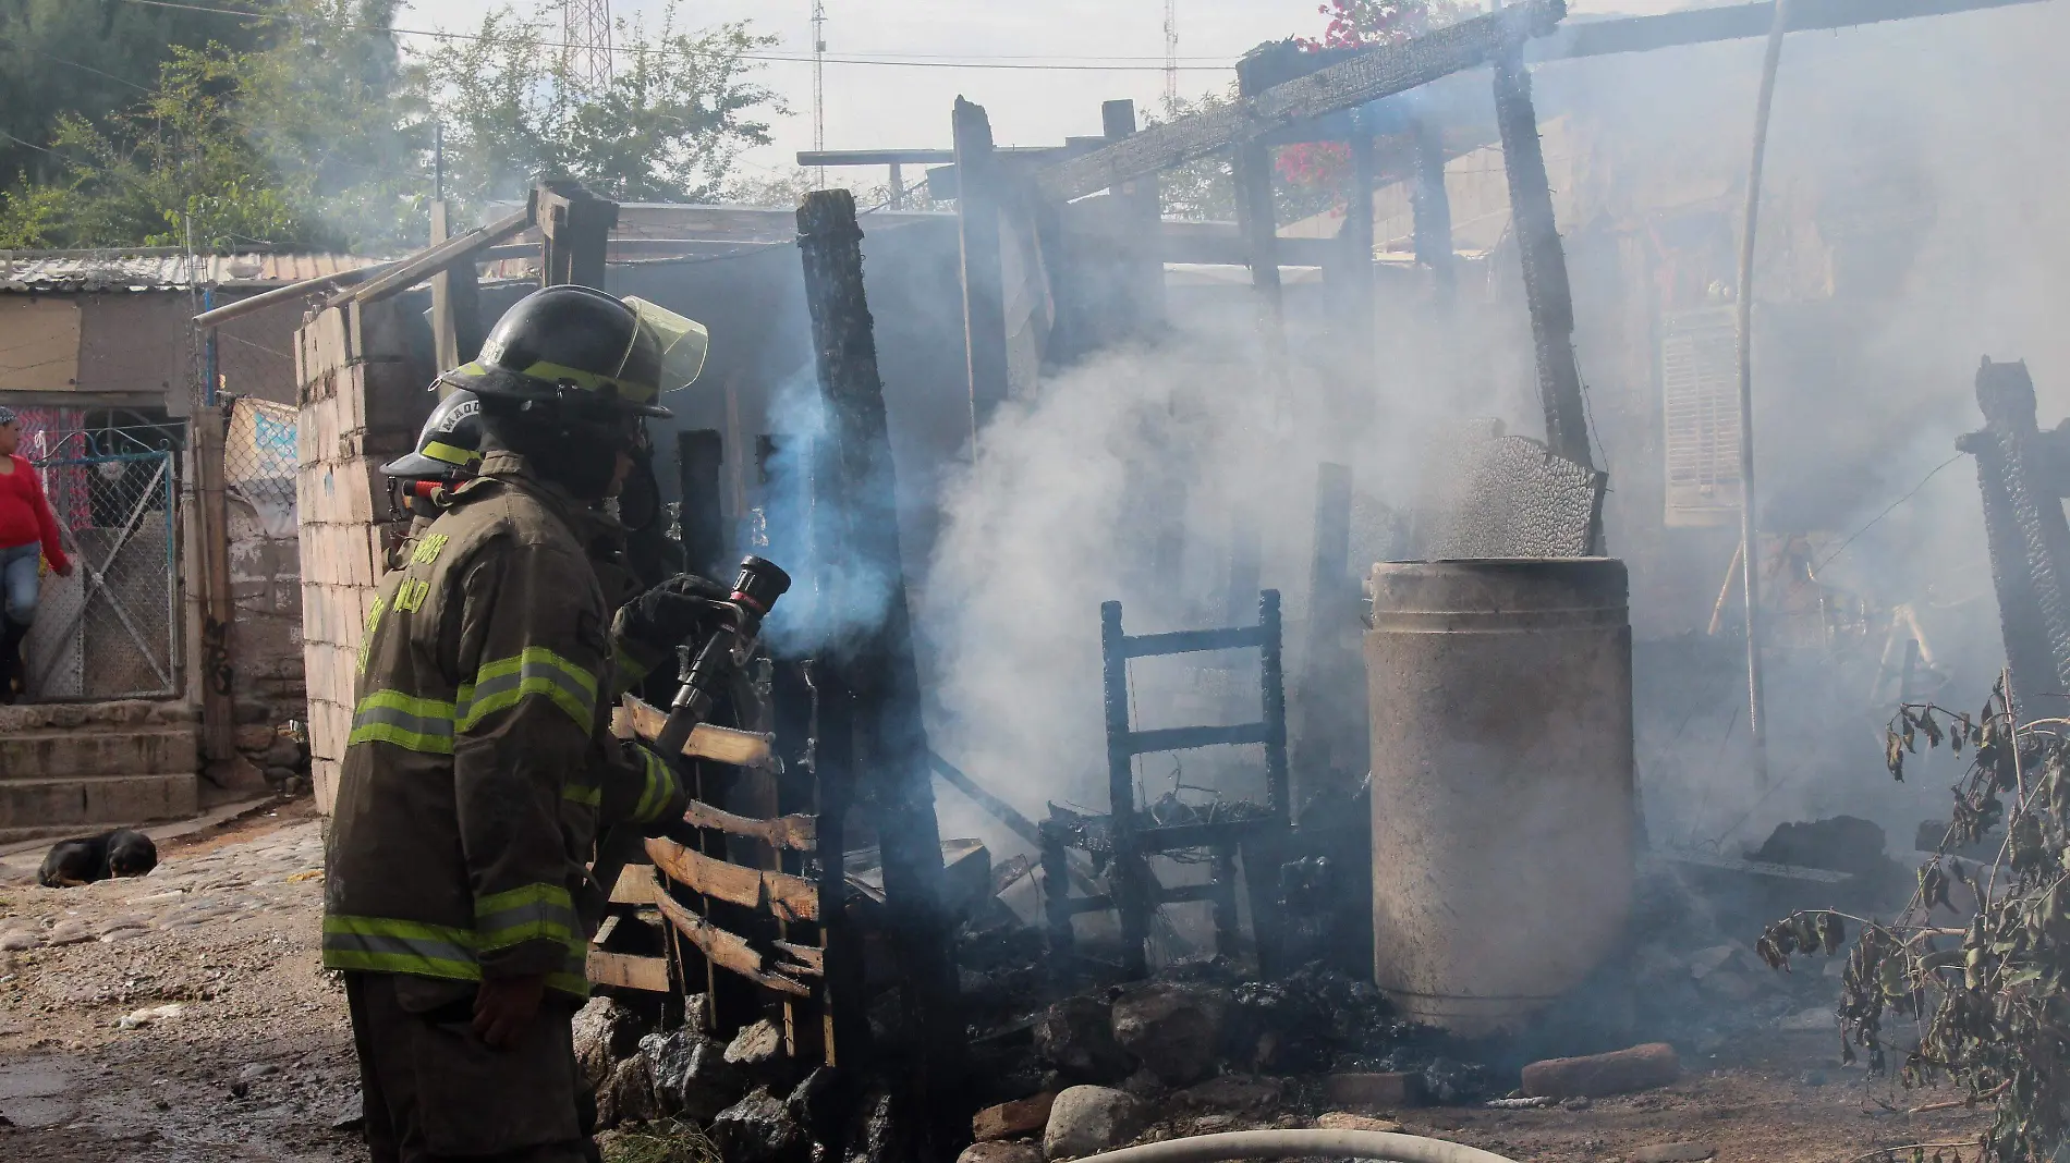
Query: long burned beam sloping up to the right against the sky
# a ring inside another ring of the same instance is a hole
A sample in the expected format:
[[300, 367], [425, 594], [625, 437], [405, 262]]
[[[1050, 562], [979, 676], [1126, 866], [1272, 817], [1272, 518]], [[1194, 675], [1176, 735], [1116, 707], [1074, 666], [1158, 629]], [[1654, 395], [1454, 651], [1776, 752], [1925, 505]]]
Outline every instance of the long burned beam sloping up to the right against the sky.
[[1178, 118], [1085, 157], [1049, 166], [1035, 176], [1035, 186], [1054, 201], [1083, 199], [1256, 141], [1275, 128], [1364, 106], [1486, 64], [1511, 39], [1550, 33], [1565, 14], [1565, 0], [1526, 0], [1399, 46], [1362, 52], [1215, 112]]

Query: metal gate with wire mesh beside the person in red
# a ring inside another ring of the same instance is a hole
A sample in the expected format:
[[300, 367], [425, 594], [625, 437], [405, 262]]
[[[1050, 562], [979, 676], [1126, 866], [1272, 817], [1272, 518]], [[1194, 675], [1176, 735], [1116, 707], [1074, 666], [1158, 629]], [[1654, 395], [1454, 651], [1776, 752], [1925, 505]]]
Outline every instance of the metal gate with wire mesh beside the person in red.
[[[99, 451], [89, 441], [64, 441], [62, 449], [35, 468], [72, 575], [43, 575], [23, 648], [29, 695], [41, 702], [178, 695], [174, 449]], [[79, 455], [64, 455], [72, 451]]]

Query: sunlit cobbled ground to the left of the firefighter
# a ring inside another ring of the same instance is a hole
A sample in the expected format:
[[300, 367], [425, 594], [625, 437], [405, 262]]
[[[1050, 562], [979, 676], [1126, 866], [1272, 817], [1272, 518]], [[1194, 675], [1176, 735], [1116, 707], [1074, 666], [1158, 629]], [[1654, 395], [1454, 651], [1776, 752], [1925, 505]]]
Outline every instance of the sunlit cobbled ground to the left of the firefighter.
[[288, 805], [147, 877], [0, 884], [0, 1159], [364, 1159], [323, 838]]

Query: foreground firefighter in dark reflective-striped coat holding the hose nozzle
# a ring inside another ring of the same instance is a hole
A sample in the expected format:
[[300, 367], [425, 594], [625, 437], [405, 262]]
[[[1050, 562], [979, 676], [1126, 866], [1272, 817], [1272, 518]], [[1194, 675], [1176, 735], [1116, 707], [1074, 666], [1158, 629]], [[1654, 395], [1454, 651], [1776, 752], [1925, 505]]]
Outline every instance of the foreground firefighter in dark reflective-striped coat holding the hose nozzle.
[[327, 851], [323, 964], [344, 971], [375, 1163], [596, 1159], [569, 1031], [604, 904], [586, 863], [600, 828], [658, 834], [685, 807], [609, 710], [718, 617], [664, 584], [609, 625], [629, 575], [600, 575], [598, 507], [704, 346], [638, 298], [557, 286], [441, 377], [478, 397], [482, 459], [366, 619]]

